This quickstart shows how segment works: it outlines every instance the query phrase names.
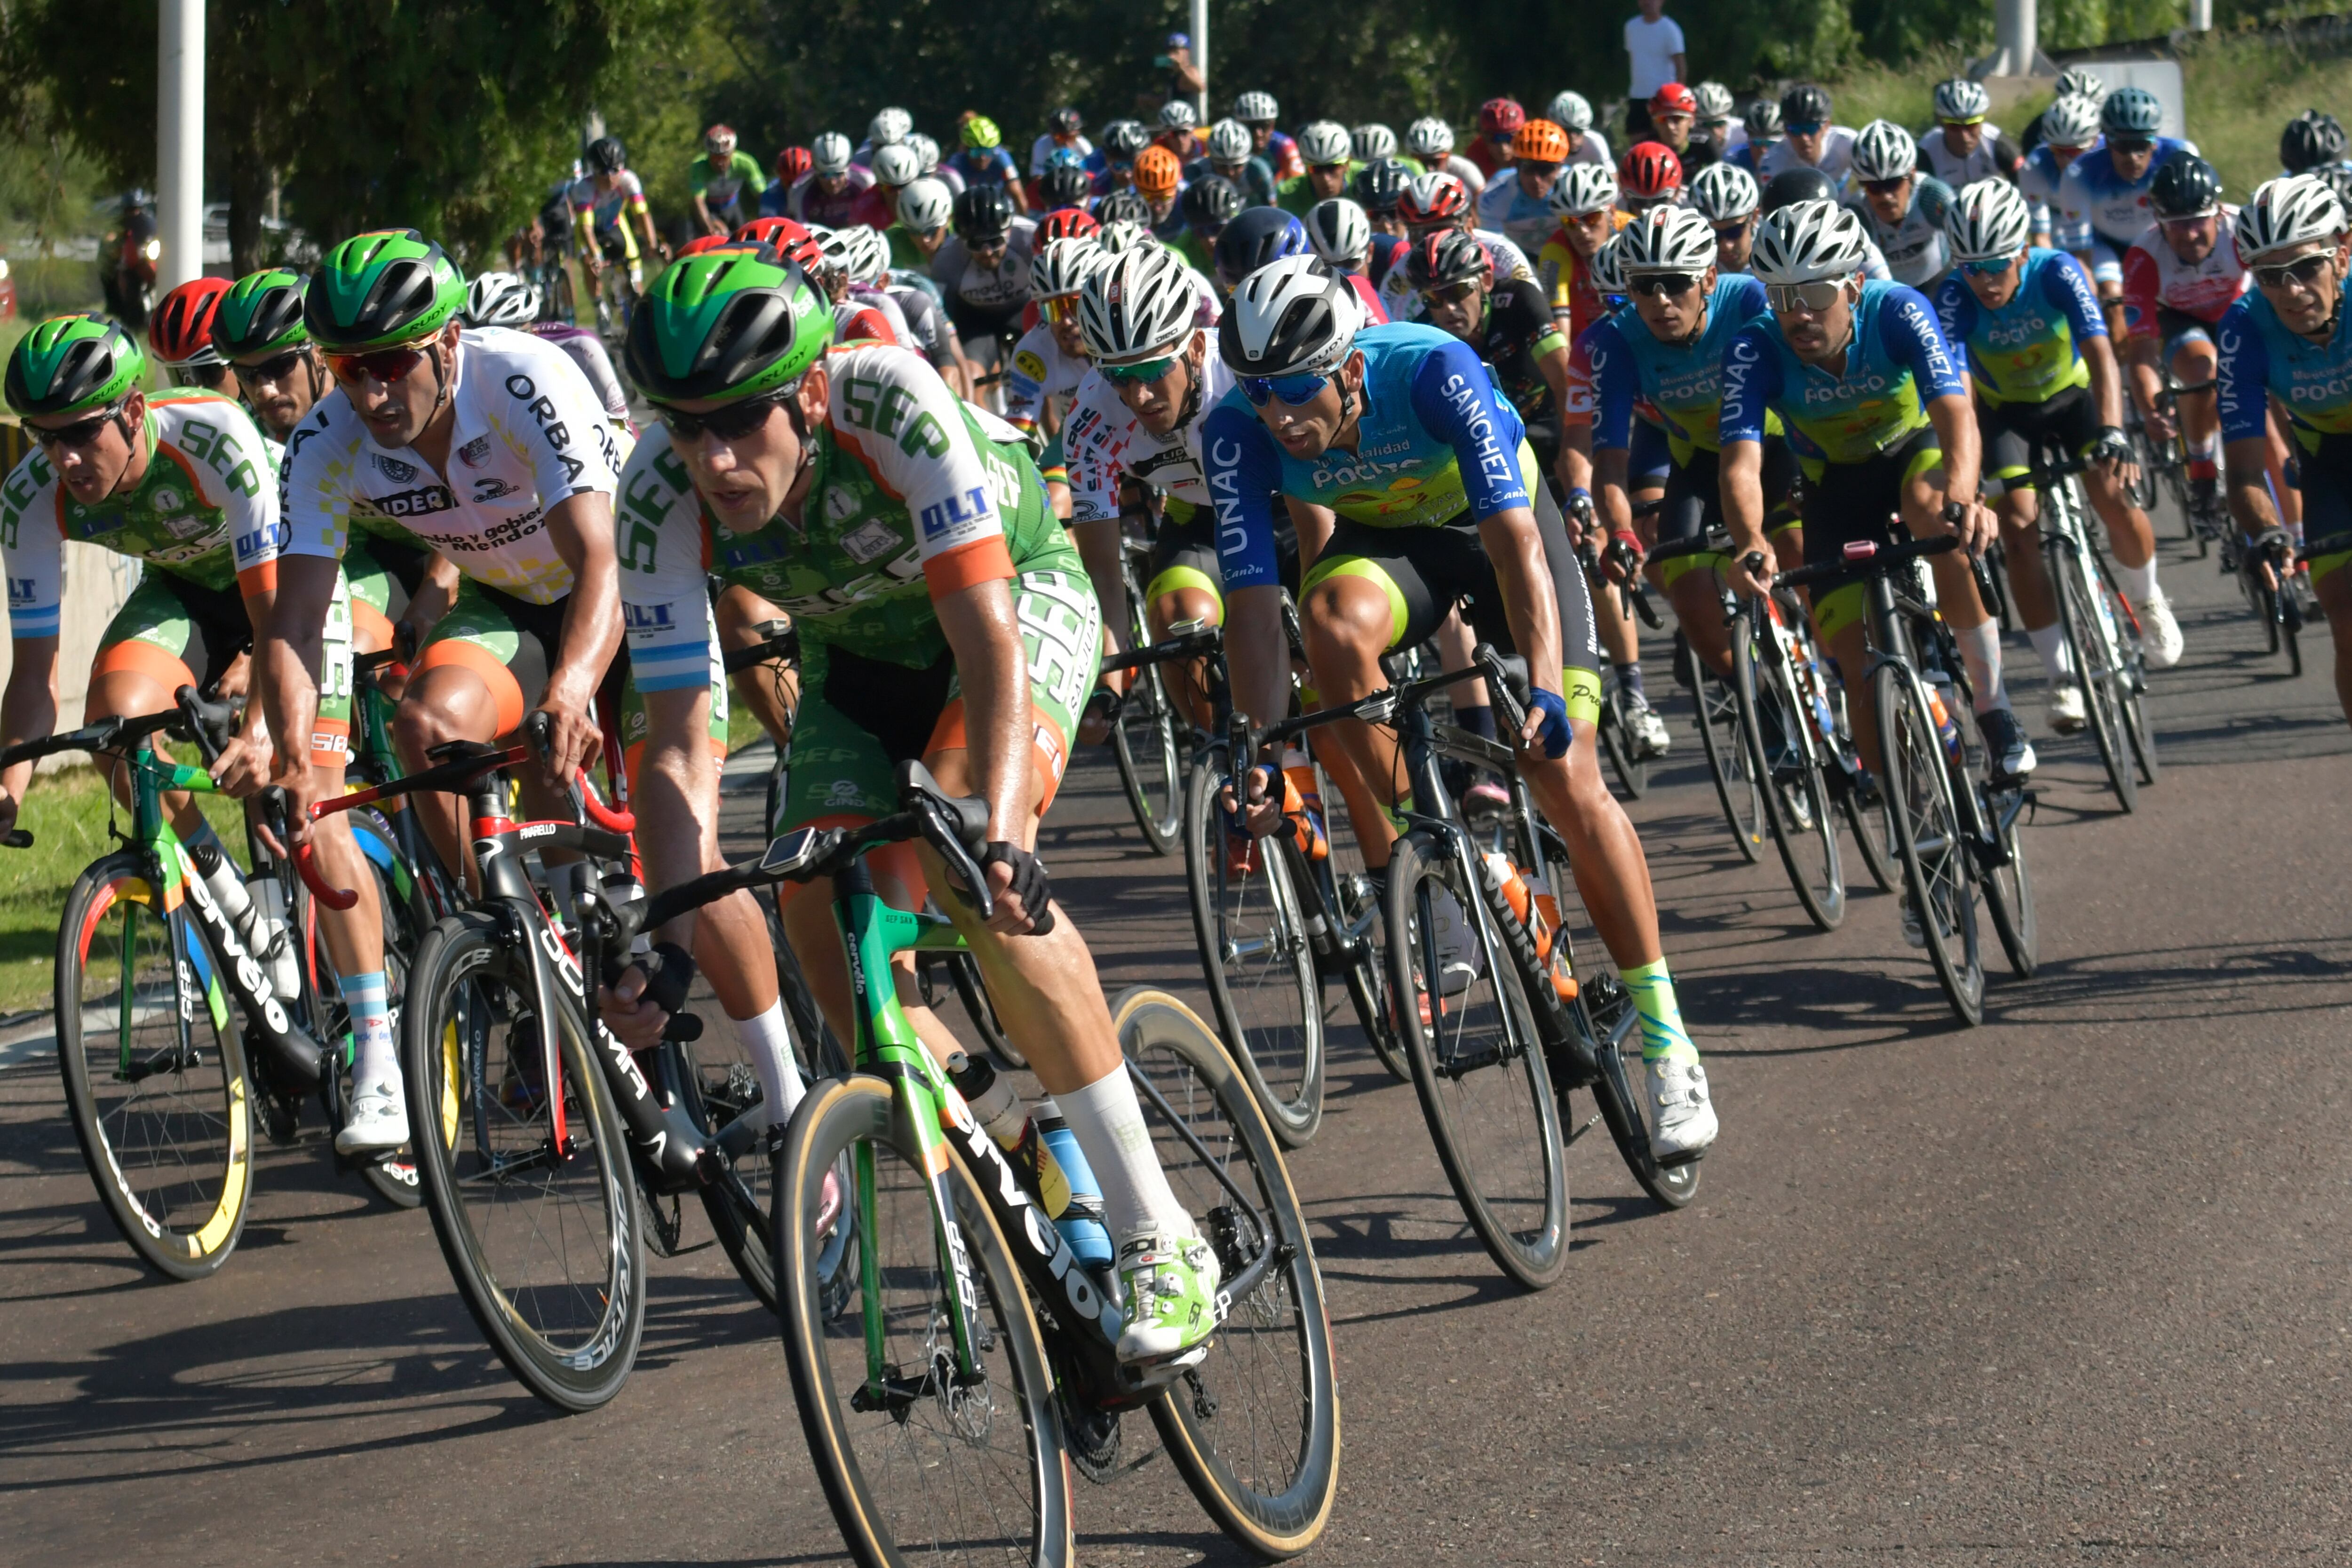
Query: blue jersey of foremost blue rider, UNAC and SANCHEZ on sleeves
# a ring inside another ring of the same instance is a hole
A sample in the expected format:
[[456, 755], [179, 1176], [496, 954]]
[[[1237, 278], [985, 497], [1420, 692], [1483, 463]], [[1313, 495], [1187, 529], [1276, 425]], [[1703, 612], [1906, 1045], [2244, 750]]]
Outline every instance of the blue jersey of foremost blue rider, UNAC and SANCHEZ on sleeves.
[[1383, 529], [1484, 522], [1529, 505], [1526, 428], [1477, 353], [1449, 331], [1367, 327], [1364, 411], [1355, 451], [1294, 458], [1242, 390], [1202, 421], [1216, 552], [1225, 590], [1277, 583], [1275, 505], [1289, 496]]

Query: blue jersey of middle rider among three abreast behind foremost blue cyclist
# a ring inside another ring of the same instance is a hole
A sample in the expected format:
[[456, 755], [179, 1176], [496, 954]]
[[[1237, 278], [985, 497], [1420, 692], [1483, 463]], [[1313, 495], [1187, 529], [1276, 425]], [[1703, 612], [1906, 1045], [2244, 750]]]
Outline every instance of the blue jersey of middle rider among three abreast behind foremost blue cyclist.
[[1959, 367], [1917, 289], [1865, 282], [1842, 374], [1806, 364], [1771, 315], [1724, 350], [1722, 442], [1762, 442], [1764, 416], [1788, 423], [1809, 458], [1867, 463], [1926, 428], [1926, 404], [1959, 395]]

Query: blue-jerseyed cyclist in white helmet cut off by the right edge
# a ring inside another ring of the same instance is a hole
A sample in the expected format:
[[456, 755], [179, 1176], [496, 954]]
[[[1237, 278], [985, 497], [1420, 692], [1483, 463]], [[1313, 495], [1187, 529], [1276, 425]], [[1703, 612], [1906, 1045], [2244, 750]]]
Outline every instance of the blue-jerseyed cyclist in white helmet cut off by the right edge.
[[[2291, 174], [2237, 209], [2237, 254], [2253, 273], [2220, 317], [2220, 440], [2230, 512], [2249, 538], [2279, 527], [2270, 491], [2270, 404], [2286, 409], [2303, 468], [2305, 538], [2352, 531], [2352, 242], [2326, 181]], [[2352, 719], [2352, 552], [2312, 559], [2312, 592], [2336, 637], [2336, 698]], [[2267, 564], [2263, 567], [2267, 571]]]

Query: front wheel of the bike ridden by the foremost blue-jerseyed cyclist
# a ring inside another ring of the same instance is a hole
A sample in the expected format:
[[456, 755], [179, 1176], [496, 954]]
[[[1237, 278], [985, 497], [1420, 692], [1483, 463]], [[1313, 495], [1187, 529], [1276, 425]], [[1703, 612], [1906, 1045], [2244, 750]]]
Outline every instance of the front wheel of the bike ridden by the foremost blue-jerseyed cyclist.
[[[1428, 976], [1444, 973], [1437, 950], [1437, 891], [1470, 919], [1484, 959], [1484, 971], [1456, 997], [1442, 994], [1442, 978], [1437, 987], [1425, 983]], [[1541, 1291], [1569, 1265], [1566, 1145], [1559, 1135], [1559, 1105], [1536, 1039], [1536, 1020], [1519, 992], [1519, 973], [1486, 943], [1482, 922], [1470, 912], [1479, 898], [1470, 872], [1432, 835], [1411, 832], [1399, 839], [1388, 863], [1390, 987], [1397, 997], [1404, 1051], [1414, 1063], [1414, 1091], [1421, 1095], [1446, 1182], [1496, 1265], [1529, 1291]], [[1477, 1004], [1461, 997], [1475, 997], [1482, 985], [1494, 997], [1494, 1023], [1482, 1032], [1494, 1039], [1472, 1046], [1468, 1025]], [[1439, 994], [1430, 1004], [1430, 1023], [1423, 1023], [1421, 1004], [1432, 992]], [[1439, 1018], [1446, 1020], [1442, 1039], [1435, 1027]], [[1449, 1084], [1470, 1077], [1482, 1079], [1477, 1084], [1482, 1100], [1477, 1107], [1456, 1107], [1456, 1098], [1468, 1098], [1468, 1091], [1456, 1095]], [[1508, 1154], [1512, 1145], [1519, 1145], [1519, 1159]], [[1505, 1173], [1505, 1161], [1517, 1168]], [[1515, 1187], [1510, 1194], [1501, 1192], [1505, 1178]]]

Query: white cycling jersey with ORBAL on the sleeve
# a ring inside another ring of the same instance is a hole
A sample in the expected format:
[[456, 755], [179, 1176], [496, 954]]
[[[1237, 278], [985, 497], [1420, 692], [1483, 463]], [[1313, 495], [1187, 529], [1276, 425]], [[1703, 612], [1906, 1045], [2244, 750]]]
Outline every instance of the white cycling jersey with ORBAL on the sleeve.
[[475, 583], [555, 604], [572, 592], [572, 567], [548, 541], [546, 510], [614, 491], [621, 444], [604, 407], [562, 348], [506, 327], [459, 334], [449, 402], [442, 475], [412, 447], [379, 447], [341, 388], [320, 397], [287, 440], [285, 552], [341, 559], [353, 517], [381, 517]]

